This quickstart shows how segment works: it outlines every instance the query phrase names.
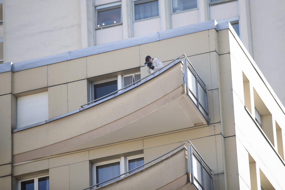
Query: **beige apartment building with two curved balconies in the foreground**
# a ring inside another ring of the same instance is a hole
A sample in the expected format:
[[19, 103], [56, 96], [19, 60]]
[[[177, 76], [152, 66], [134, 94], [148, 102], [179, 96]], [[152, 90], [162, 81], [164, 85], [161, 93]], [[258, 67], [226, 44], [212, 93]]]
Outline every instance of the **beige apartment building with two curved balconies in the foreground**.
[[[148, 75], [147, 55], [164, 67]], [[1, 189], [285, 189], [285, 108], [229, 22], [4, 63], [0, 80]]]

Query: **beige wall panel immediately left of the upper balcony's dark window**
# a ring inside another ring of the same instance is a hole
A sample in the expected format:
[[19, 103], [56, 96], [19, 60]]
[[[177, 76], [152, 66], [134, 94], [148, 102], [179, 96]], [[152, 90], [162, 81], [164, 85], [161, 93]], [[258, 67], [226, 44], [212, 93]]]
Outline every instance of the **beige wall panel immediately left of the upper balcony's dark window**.
[[68, 112], [77, 110], [87, 103], [87, 80], [67, 84]]

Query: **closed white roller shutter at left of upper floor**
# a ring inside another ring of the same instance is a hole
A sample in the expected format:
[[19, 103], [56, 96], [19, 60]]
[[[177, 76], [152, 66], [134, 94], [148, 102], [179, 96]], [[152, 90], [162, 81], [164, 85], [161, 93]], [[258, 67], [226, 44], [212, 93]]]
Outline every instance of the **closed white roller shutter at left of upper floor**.
[[47, 92], [17, 98], [17, 128], [45, 121], [47, 119]]

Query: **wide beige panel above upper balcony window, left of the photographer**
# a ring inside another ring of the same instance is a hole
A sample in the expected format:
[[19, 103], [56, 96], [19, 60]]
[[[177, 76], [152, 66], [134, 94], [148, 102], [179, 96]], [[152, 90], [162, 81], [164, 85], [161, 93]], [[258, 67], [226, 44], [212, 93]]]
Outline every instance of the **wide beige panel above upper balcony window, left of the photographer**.
[[87, 78], [138, 66], [140, 66], [139, 46], [100, 53], [87, 57]]

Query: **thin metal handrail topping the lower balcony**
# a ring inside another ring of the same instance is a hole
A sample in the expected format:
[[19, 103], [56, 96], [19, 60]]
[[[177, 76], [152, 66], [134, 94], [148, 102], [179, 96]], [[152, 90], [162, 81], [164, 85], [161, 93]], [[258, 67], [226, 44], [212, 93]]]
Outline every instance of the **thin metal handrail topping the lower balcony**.
[[[149, 163], [151, 163], [151, 162], [153, 162], [153, 161], [156, 161], [157, 159], [161, 158], [162, 156], [165, 156], [165, 155], [171, 153], [172, 151], [174, 151], [174, 150], [176, 150], [177, 148], [179, 148], [179, 147], [185, 145], [186, 143], [189, 143], [189, 144], [192, 146], [192, 149], [194, 149], [195, 153], [201, 158], [201, 160], [204, 161], [204, 159], [203, 159], [202, 156], [199, 154], [199, 152], [197, 151], [197, 149], [193, 146], [193, 144], [190, 142], [190, 140], [187, 140], [186, 142], [184, 142], [184, 143], [182, 143], [181, 145], [179, 145], [179, 146], [173, 148], [172, 150], [168, 151], [167, 153], [164, 153], [164, 154], [162, 154], [161, 156], [159, 156], [159, 157], [157, 157], [157, 158], [155, 158], [155, 159], [153, 159], [153, 160], [151, 160], [151, 161], [149, 161], [149, 162], [147, 162], [147, 163], [145, 163], [145, 164], [143, 164], [143, 165], [141, 165], [141, 166], [139, 166], [139, 167], [136, 167], [136, 168], [134, 168], [134, 169], [132, 169], [132, 170], [129, 170], [129, 171], [125, 172], [125, 173], [122, 173], [122, 174], [120, 174], [120, 175], [117, 175], [116, 177], [113, 177], [113, 178], [108, 179], [108, 180], [106, 180], [106, 181], [103, 181], [103, 182], [97, 183], [97, 184], [95, 184], [95, 185], [89, 186], [89, 187], [84, 188], [84, 189], [82, 189], [82, 190], [90, 189], [90, 188], [95, 187], [95, 186], [97, 186], [97, 185], [100, 185], [100, 184], [102, 184], [102, 183], [106, 183], [106, 182], [111, 181], [111, 180], [113, 180], [113, 179], [115, 179], [115, 178], [118, 178], [118, 177], [120, 177], [120, 176], [122, 176], [122, 175], [125, 175], [125, 174], [127, 174], [127, 173], [129, 173], [129, 172], [132, 172], [132, 171], [134, 171], [134, 170], [137, 170], [138, 168], [141, 168], [141, 167], [143, 167], [143, 166], [145, 166], [145, 165], [147, 165], [147, 164], [149, 164]], [[186, 148], [186, 147], [185, 147], [185, 148]], [[186, 149], [187, 149], [187, 148], [186, 148]], [[209, 167], [205, 162], [203, 162], [203, 164], [205, 165], [205, 167], [207, 167], [207, 170], [208, 170], [208, 171], [211, 171], [211, 170], [210, 170], [210, 167]]]

